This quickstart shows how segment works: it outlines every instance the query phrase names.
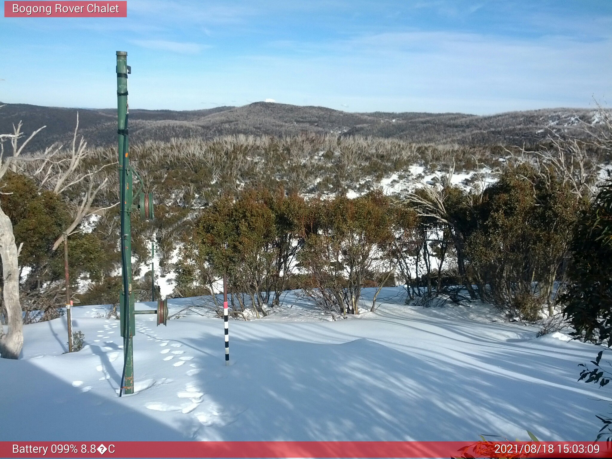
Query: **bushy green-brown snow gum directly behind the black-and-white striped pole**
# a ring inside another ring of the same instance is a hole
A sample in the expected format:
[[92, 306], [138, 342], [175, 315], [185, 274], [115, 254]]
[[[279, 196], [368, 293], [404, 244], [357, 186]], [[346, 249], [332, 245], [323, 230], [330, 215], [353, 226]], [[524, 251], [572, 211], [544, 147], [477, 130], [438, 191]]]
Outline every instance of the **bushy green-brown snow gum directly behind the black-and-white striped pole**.
[[244, 311], [246, 295], [255, 315], [265, 315], [264, 305], [279, 304], [293, 274], [303, 209], [304, 200], [282, 187], [242, 190], [235, 199], [216, 201], [201, 213], [185, 241], [177, 293], [198, 288], [213, 293], [214, 283], [226, 273], [237, 307]]

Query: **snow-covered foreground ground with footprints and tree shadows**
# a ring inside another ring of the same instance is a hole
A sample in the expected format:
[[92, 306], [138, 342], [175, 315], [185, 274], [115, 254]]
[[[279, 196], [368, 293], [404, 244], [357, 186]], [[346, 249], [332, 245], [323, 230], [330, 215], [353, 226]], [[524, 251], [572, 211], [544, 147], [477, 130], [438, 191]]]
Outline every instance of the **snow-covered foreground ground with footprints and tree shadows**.
[[0, 359], [0, 440], [594, 439], [609, 392], [578, 383], [577, 365], [595, 346], [535, 338], [487, 305], [406, 306], [401, 288], [381, 297], [346, 320], [286, 299], [231, 321], [230, 367], [222, 320], [136, 316], [136, 394], [122, 398], [119, 321], [105, 307], [74, 309], [86, 346], [73, 354], [65, 317], [26, 325], [23, 359]]

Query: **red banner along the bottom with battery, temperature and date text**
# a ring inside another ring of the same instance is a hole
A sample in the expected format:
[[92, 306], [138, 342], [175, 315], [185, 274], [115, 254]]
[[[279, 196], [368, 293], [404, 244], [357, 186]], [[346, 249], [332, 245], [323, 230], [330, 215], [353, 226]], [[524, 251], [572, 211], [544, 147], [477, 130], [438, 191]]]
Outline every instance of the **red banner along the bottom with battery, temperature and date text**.
[[0, 457], [594, 458], [612, 457], [612, 445], [586, 441], [3, 441]]

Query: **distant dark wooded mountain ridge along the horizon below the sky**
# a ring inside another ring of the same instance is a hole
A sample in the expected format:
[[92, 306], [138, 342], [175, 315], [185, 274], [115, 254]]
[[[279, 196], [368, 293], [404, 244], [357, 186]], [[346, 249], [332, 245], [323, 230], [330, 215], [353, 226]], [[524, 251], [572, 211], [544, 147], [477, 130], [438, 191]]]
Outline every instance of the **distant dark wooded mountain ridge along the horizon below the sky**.
[[[2, 103], [0, 102], [0, 105]], [[116, 141], [116, 110], [76, 109], [7, 103], [0, 108], [0, 132], [12, 132], [23, 121], [24, 132], [46, 125], [32, 149], [72, 139], [79, 114], [79, 132], [90, 146]], [[523, 144], [545, 138], [548, 129], [575, 130], [580, 120], [592, 122], [595, 110], [554, 108], [513, 111], [490, 116], [463, 113], [348, 113], [320, 106], [255, 102], [206, 110], [130, 110], [132, 143], [146, 140], [219, 135], [294, 135], [332, 133], [398, 138], [415, 143]]]

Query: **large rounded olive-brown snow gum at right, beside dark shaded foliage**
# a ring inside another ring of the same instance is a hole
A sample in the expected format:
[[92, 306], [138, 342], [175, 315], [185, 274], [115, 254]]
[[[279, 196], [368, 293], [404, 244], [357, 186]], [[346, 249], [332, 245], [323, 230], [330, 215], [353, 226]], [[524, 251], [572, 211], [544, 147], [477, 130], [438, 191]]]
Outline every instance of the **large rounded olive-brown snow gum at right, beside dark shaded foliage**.
[[554, 174], [525, 164], [505, 171], [483, 193], [466, 244], [480, 297], [520, 319], [539, 318], [554, 304], [554, 282], [562, 280], [583, 205]]

